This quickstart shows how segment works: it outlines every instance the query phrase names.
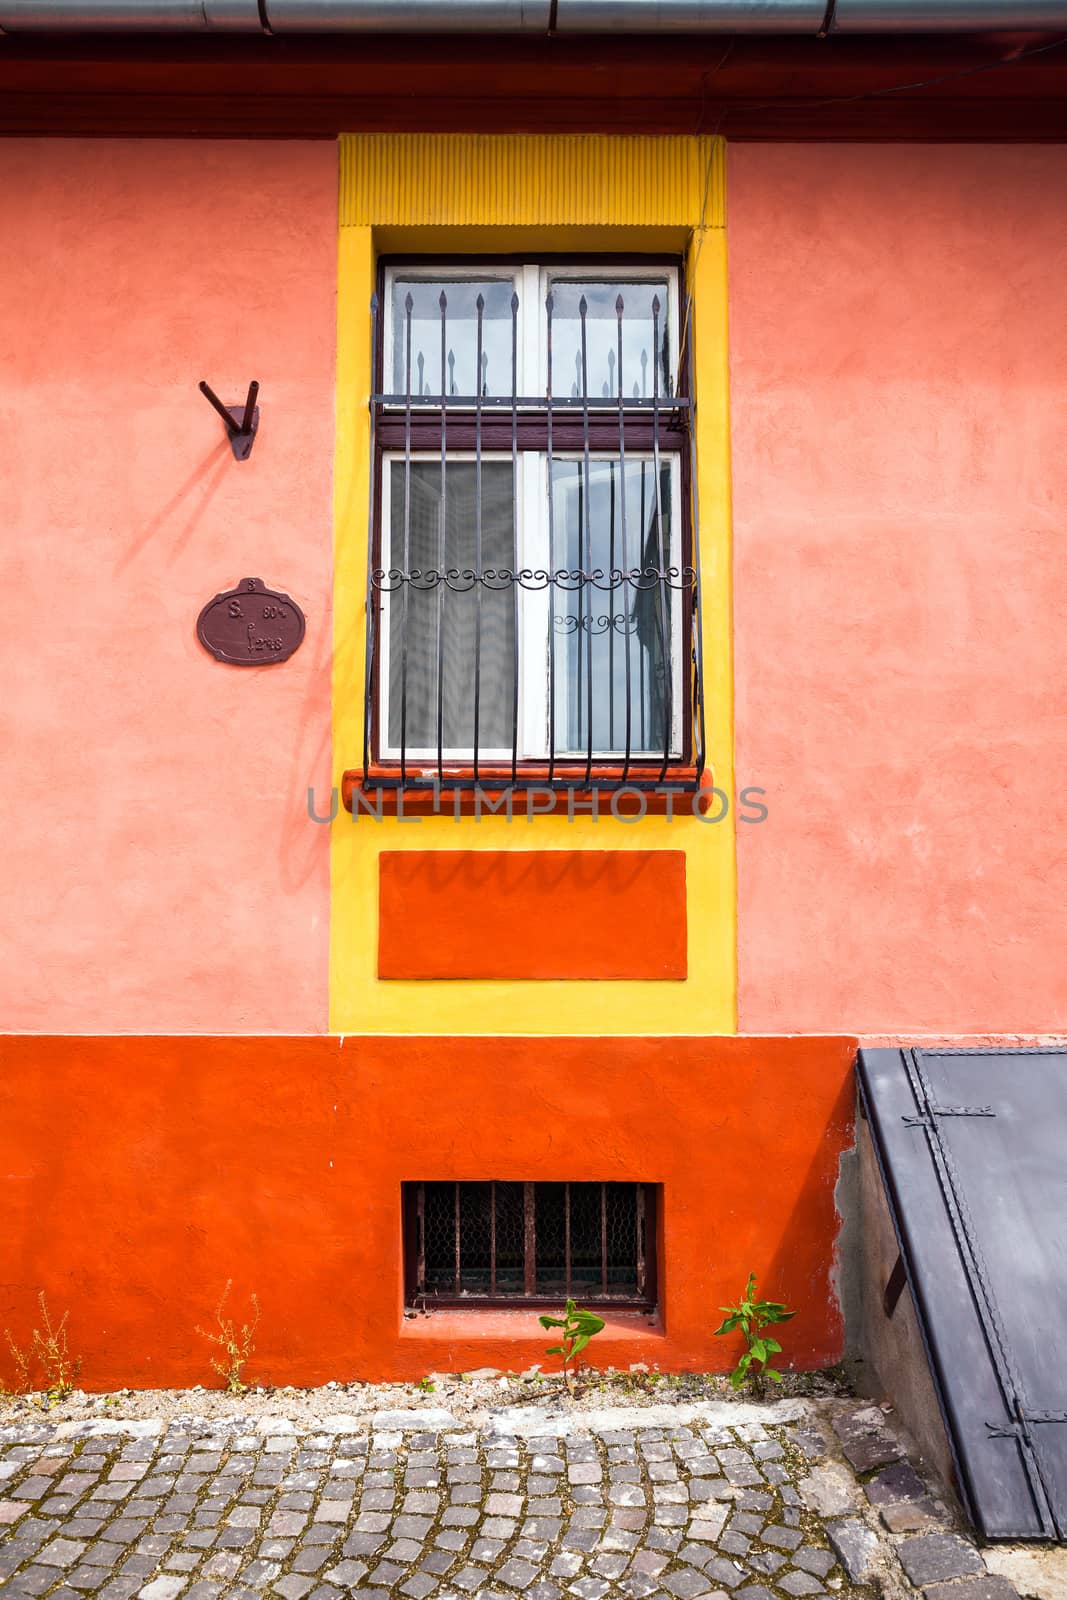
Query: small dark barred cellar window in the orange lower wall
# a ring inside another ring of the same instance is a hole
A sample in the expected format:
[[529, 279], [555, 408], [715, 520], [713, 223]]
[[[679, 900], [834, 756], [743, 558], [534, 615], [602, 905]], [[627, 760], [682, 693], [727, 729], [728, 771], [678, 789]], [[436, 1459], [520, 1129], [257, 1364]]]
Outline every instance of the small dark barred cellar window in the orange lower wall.
[[654, 1304], [651, 1184], [411, 1182], [403, 1211], [410, 1306]]

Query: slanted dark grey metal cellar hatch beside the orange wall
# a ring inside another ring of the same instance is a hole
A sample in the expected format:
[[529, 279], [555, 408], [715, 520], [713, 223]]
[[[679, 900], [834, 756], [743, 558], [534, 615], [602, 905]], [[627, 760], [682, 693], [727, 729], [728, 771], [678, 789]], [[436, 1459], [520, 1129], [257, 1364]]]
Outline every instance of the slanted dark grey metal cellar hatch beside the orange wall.
[[861, 1050], [859, 1090], [966, 1509], [1064, 1539], [1067, 1050]]

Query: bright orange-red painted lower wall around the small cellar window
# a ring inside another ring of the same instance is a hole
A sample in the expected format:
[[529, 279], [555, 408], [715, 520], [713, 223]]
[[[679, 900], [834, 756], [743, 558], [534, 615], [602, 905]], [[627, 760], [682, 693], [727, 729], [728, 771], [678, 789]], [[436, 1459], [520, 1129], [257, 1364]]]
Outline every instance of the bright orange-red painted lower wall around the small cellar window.
[[[77, 1038], [0, 1046], [0, 1328], [69, 1310], [88, 1389], [211, 1384], [227, 1278], [262, 1322], [250, 1378], [312, 1384], [526, 1366], [534, 1312], [403, 1317], [410, 1179], [661, 1184], [659, 1318], [600, 1365], [725, 1370], [717, 1309], [755, 1270], [841, 1354], [833, 1186], [851, 1038]], [[785, 1342], [785, 1341], [784, 1341]], [[6, 1357], [6, 1352], [2, 1352]], [[0, 1378], [11, 1371], [0, 1362]]]

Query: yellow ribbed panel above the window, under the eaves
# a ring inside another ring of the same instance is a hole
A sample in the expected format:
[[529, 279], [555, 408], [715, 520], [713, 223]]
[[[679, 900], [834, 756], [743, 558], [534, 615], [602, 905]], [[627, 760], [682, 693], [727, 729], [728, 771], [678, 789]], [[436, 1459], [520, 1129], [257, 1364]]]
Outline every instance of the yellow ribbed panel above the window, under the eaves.
[[721, 138], [341, 136], [342, 227], [723, 227], [725, 216]]

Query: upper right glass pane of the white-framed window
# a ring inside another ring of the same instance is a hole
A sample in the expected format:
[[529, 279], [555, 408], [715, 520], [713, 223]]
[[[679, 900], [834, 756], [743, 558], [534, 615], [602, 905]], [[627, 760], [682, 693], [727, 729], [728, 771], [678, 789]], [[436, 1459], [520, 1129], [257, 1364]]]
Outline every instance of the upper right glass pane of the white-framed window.
[[[622, 395], [651, 400], [654, 349], [659, 344], [659, 394], [672, 392], [670, 330], [667, 326], [667, 277], [627, 282], [619, 278], [550, 278], [552, 288], [552, 389], [557, 395], [582, 395], [582, 325], [585, 298], [585, 362], [589, 398], [614, 400], [619, 394], [619, 318], [622, 296]], [[653, 299], [659, 312], [653, 320]], [[438, 362], [440, 365], [440, 362]]]

